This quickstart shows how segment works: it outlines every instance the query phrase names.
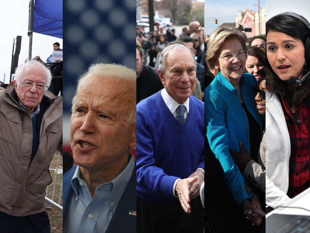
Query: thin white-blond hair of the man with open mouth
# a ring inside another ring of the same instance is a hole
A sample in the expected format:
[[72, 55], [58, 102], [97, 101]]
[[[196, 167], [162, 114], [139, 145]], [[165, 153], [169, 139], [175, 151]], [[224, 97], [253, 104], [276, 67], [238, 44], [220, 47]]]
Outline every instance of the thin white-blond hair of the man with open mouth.
[[[136, 71], [127, 68], [126, 66], [120, 64], [104, 64], [104, 63], [97, 63], [91, 64], [88, 70], [79, 77], [78, 79], [78, 86], [75, 92], [75, 96], [72, 100], [72, 108], [75, 105], [75, 98], [78, 93], [78, 89], [85, 79], [85, 77], [89, 74], [97, 75], [104, 78], [112, 78], [114, 80], [119, 80], [119, 82], [126, 83], [126, 87], [130, 90], [130, 94], [128, 98], [131, 101], [131, 106], [128, 113], [128, 121], [130, 124], [136, 124], [136, 92], [137, 92], [137, 80], [136, 80]], [[99, 90], [100, 91], [100, 90]]]

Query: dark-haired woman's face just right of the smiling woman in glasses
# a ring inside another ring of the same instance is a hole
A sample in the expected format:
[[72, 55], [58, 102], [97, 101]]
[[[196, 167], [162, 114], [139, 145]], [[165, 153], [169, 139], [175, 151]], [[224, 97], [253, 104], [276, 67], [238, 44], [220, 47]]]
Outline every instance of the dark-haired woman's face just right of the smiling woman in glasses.
[[248, 57], [246, 58], [245, 73], [254, 75], [256, 80], [259, 79], [260, 74], [257, 73], [266, 66], [266, 51], [259, 47], [248, 48]]

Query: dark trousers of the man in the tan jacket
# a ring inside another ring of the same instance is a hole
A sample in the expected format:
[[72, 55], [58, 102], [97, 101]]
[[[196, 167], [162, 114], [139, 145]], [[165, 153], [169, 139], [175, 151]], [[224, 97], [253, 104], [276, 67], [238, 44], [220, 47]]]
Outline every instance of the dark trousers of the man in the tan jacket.
[[[40, 225], [40, 223], [38, 225]], [[0, 212], [0, 233], [50, 233], [50, 232], [51, 227], [49, 223], [48, 226], [45, 227], [43, 230], [39, 230], [29, 216], [17, 217]]]

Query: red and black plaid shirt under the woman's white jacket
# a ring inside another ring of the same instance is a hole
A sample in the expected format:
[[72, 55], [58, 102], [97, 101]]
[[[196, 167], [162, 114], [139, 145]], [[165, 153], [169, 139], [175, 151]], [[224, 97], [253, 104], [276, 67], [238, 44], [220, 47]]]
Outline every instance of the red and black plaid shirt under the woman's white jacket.
[[309, 188], [309, 106], [300, 103], [294, 113], [286, 100], [282, 108], [290, 135], [291, 154], [289, 162], [289, 189], [287, 195], [292, 198]]

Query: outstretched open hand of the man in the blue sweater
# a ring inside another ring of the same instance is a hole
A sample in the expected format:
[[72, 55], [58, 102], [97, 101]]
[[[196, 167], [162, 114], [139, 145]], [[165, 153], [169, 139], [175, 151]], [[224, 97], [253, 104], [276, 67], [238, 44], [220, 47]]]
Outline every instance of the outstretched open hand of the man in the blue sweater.
[[[175, 192], [179, 197], [179, 201], [185, 213], [190, 213], [189, 205], [189, 189], [198, 180], [198, 176], [178, 180], [175, 185]], [[199, 192], [198, 192], [199, 193]]]

